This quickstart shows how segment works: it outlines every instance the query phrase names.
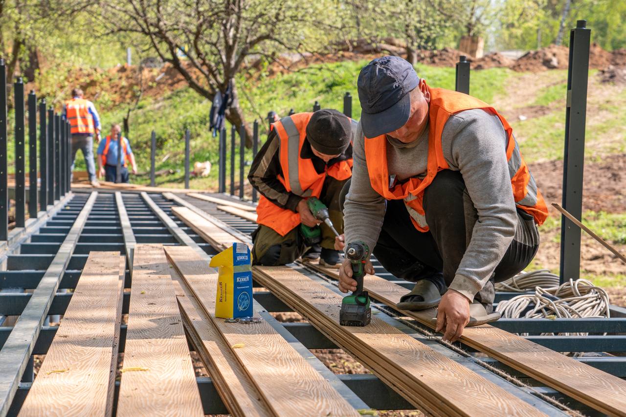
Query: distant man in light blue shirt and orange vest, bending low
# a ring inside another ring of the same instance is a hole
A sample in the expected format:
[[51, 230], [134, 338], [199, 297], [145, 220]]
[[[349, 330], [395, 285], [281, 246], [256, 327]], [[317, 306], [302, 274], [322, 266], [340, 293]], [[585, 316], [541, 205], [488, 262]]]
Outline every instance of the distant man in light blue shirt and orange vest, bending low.
[[[109, 182], [116, 182], [117, 178], [118, 135], [120, 132], [120, 125], [112, 125], [111, 134], [106, 136], [105, 140], [101, 141], [98, 146], [98, 175], [105, 177], [106, 181]], [[133, 168], [133, 174], [137, 173], [137, 163], [128, 139], [122, 136], [121, 142], [121, 182], [128, 182], [128, 168], [126, 168], [128, 160], [130, 160], [130, 165]]]

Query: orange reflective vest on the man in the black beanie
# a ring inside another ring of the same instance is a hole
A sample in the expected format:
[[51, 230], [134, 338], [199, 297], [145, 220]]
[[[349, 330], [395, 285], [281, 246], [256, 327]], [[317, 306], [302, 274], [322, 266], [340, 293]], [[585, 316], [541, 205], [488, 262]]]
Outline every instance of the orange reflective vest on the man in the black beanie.
[[[272, 123], [272, 129], [276, 130], [280, 140], [279, 157], [282, 175], [279, 175], [278, 179], [287, 191], [305, 198], [319, 198], [326, 175], [337, 180], [347, 180], [352, 176], [352, 158], [326, 167], [326, 172], [317, 173], [310, 159], [300, 157], [307, 124], [312, 115], [313, 113], [297, 113]], [[354, 136], [357, 123], [354, 120], [351, 120], [351, 123]], [[258, 224], [270, 227], [281, 236], [300, 224], [299, 213], [282, 209], [263, 195], [259, 198], [257, 215]]]

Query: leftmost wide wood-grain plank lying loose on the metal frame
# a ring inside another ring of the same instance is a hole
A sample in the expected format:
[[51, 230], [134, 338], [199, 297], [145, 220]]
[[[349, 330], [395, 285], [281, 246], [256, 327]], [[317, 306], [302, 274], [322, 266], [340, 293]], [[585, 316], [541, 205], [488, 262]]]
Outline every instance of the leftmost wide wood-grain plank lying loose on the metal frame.
[[20, 416], [110, 415], [120, 282], [120, 252], [91, 252]]

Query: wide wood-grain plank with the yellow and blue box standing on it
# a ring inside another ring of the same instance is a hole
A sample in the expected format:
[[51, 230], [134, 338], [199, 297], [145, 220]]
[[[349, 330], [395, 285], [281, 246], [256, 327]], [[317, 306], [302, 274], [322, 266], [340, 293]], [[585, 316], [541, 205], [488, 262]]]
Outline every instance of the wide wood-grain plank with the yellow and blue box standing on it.
[[[188, 288], [231, 346], [267, 405], [279, 416], [358, 416], [289, 342], [267, 322], [250, 326], [215, 318], [217, 274], [186, 247], [167, 247]], [[256, 314], [256, 312], [255, 312]], [[235, 347], [239, 346], [240, 347]]]

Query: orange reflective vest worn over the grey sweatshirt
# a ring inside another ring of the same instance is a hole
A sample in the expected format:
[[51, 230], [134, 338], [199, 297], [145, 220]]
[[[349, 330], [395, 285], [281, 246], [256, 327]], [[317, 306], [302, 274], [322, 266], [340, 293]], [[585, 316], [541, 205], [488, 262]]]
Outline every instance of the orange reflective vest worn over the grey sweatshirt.
[[520, 147], [513, 136], [513, 129], [505, 118], [493, 107], [472, 96], [457, 93], [456, 91], [444, 90], [443, 88], [428, 88], [428, 91], [431, 95], [431, 101], [428, 131], [428, 171], [426, 176], [423, 180], [409, 178], [404, 183], [389, 187], [386, 135], [376, 136], [371, 139], [366, 138], [365, 158], [372, 188], [387, 200], [403, 199], [416, 229], [421, 232], [428, 232], [426, 215], [422, 206], [424, 190], [433, 182], [439, 171], [449, 169], [448, 163], [443, 157], [443, 149], [441, 147], [443, 128], [448, 118], [454, 113], [480, 108], [491, 115], [498, 116], [505, 128], [506, 136], [508, 137], [506, 160], [508, 161], [515, 205], [526, 213], [531, 214], [536, 224], [543, 224], [548, 217], [548, 208], [537, 189], [535, 178], [531, 175], [524, 158], [521, 157]]

